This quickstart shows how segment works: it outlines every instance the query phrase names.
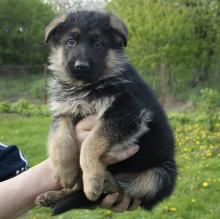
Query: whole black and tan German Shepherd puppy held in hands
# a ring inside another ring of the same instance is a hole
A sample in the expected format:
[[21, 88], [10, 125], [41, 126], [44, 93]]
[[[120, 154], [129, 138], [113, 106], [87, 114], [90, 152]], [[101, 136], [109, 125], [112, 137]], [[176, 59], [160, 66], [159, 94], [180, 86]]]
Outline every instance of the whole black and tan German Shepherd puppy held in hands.
[[[151, 209], [174, 188], [173, 134], [152, 90], [124, 55], [127, 40], [125, 24], [111, 13], [73, 12], [46, 28], [54, 75], [49, 156], [63, 190], [41, 195], [38, 202], [55, 202], [55, 214], [95, 207], [106, 191], [139, 199]], [[96, 125], [79, 150], [74, 126], [90, 114], [97, 115]], [[135, 142], [140, 149], [134, 156], [109, 167], [103, 164], [101, 158], [111, 147]], [[67, 195], [74, 185], [79, 190]]]

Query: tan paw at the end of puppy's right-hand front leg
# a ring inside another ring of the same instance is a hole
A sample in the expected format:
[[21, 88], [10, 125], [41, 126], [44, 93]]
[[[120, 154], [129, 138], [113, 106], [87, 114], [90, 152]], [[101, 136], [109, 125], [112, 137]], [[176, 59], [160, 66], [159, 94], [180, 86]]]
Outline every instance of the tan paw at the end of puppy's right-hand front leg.
[[99, 198], [103, 191], [104, 174], [97, 174], [89, 176], [83, 176], [83, 187], [86, 197], [95, 201]]

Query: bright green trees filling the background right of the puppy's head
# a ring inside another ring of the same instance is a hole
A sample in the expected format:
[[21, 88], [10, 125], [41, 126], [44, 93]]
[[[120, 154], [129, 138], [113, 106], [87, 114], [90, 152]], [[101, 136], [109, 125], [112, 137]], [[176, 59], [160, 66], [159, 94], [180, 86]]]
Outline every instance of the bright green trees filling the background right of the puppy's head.
[[161, 94], [198, 84], [219, 89], [219, 1], [112, 0], [107, 9], [129, 29], [128, 57]]

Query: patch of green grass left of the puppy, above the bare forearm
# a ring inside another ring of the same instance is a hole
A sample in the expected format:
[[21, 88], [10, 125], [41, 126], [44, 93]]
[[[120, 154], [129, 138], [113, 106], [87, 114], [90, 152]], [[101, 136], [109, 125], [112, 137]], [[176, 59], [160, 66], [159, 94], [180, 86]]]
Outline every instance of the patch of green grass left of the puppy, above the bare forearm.
[[31, 166], [46, 158], [46, 142], [50, 117], [24, 117], [0, 114], [0, 142], [18, 145]]

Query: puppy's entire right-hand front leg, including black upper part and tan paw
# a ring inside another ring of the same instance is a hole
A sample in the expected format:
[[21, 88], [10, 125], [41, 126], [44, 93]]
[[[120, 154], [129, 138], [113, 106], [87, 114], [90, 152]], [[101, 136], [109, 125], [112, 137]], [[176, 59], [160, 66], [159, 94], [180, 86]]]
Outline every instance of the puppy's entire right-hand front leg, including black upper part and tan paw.
[[105, 165], [101, 161], [101, 156], [115, 144], [133, 143], [136, 137], [147, 130], [139, 109], [130, 102], [131, 97], [124, 98], [115, 100], [99, 119], [81, 148], [80, 165], [84, 192], [92, 201], [100, 196], [103, 189]]

